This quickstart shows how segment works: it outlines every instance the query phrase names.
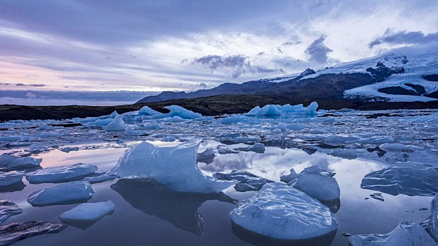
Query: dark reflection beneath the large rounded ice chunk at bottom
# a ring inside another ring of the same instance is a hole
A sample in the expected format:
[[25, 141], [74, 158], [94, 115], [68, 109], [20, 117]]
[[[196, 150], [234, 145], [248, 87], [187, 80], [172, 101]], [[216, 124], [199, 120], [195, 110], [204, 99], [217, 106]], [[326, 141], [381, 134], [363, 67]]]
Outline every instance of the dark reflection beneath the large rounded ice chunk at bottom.
[[337, 232], [334, 230], [322, 236], [302, 240], [281, 240], [251, 232], [250, 230], [246, 230], [245, 228], [242, 228], [242, 226], [233, 223], [233, 221], [231, 221], [231, 228], [235, 236], [255, 246], [327, 246], [331, 245]]

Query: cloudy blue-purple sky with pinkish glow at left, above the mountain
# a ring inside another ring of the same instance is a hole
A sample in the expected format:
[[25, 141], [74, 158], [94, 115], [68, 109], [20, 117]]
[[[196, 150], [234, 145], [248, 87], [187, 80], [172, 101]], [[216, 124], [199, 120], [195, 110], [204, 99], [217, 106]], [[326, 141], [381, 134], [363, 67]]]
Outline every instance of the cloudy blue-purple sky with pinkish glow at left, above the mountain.
[[0, 0], [0, 97], [141, 98], [436, 47], [437, 9], [435, 0]]

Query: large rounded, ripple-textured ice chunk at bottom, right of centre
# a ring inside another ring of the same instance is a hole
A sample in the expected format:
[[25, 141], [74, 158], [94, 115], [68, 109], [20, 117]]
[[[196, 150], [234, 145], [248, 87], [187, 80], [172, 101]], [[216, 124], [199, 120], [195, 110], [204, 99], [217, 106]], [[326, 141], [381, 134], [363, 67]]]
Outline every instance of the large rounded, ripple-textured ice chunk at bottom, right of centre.
[[257, 234], [283, 240], [313, 238], [335, 232], [335, 215], [305, 193], [268, 183], [231, 210], [233, 223]]

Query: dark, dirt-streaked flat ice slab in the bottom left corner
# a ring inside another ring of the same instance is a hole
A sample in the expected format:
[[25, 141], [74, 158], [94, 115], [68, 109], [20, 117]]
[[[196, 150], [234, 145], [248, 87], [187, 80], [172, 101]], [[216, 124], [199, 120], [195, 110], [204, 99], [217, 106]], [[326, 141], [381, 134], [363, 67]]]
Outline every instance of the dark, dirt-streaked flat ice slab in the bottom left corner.
[[10, 223], [0, 227], [0, 245], [12, 245], [13, 243], [32, 236], [57, 233], [66, 227], [66, 225], [61, 223], [45, 221]]

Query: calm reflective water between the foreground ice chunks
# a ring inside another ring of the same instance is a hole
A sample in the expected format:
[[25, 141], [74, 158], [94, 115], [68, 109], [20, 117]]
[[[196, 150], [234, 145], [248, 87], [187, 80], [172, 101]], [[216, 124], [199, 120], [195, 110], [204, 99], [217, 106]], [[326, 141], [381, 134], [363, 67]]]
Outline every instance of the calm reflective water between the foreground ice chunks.
[[[219, 144], [222, 143], [205, 141], [198, 152], [209, 147], [216, 148]], [[87, 163], [99, 167], [98, 172], [104, 172], [114, 167], [127, 149], [96, 146], [69, 153], [51, 150], [34, 156], [43, 159], [42, 167]], [[246, 145], [239, 143], [229, 148], [240, 146]], [[383, 194], [385, 202], [372, 198], [365, 200], [374, 191], [361, 189], [361, 179], [365, 174], [388, 165], [383, 162], [346, 160], [323, 152], [309, 155], [296, 148], [266, 147], [263, 154], [216, 153], [213, 163], [198, 163], [207, 175], [231, 172], [233, 169], [248, 170], [275, 181], [289, 173], [292, 167], [300, 172], [311, 165], [336, 172], [335, 178], [341, 189], [341, 206], [335, 214], [339, 230], [331, 245], [348, 245], [342, 232], [387, 233], [394, 230], [401, 219], [421, 222], [430, 215], [430, 210], [419, 208], [429, 208], [432, 197]], [[26, 180], [25, 184], [27, 186], [23, 191], [0, 193], [0, 199], [11, 199], [23, 208], [21, 215], [11, 217], [6, 223], [31, 220], [60, 222], [57, 219], [59, 215], [77, 206], [32, 207], [27, 204], [28, 195], [53, 184], [29, 184]], [[254, 195], [253, 191], [240, 193], [230, 187], [223, 195], [194, 195], [176, 193], [138, 180], [113, 180], [92, 184], [92, 187], [96, 193], [89, 202], [112, 200], [116, 206], [113, 215], [104, 217], [86, 230], [68, 226], [60, 233], [27, 238], [15, 245], [251, 245], [234, 234], [229, 212], [235, 208], [233, 199], [244, 200]]]

